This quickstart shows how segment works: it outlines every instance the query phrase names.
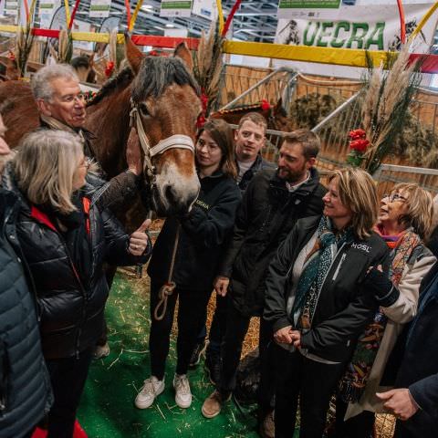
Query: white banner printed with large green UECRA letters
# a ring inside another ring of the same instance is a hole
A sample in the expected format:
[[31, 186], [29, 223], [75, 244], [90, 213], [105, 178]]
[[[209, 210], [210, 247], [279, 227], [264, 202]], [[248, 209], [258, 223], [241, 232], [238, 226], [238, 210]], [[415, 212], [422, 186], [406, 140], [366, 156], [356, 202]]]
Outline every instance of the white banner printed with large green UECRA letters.
[[[391, 5], [390, 5], [391, 3]], [[405, 3], [405, 2], [403, 2]], [[404, 15], [409, 37], [433, 2], [406, 2]], [[412, 50], [427, 53], [433, 44], [438, 12], [433, 14], [415, 38]], [[278, 20], [276, 43], [291, 46], [348, 48], [366, 50], [399, 50], [400, 17], [394, 2], [343, 0], [331, 16], [307, 16]], [[360, 68], [321, 65], [296, 61], [274, 61], [276, 67], [298, 68], [303, 73], [360, 78]]]

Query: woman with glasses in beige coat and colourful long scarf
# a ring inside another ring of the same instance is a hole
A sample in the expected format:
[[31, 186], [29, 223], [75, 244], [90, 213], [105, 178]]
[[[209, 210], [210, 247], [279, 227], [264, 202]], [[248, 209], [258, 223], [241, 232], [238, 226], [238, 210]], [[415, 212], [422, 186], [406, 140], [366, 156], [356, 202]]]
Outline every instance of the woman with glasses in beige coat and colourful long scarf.
[[384, 412], [376, 392], [391, 389], [392, 367], [387, 371], [385, 368], [403, 326], [417, 313], [422, 278], [436, 260], [423, 243], [432, 224], [433, 198], [416, 183], [396, 184], [381, 200], [375, 229], [391, 250], [391, 267], [389, 276], [378, 266], [369, 273], [370, 291], [386, 293], [339, 384], [336, 427], [339, 438], [368, 438], [374, 412]]

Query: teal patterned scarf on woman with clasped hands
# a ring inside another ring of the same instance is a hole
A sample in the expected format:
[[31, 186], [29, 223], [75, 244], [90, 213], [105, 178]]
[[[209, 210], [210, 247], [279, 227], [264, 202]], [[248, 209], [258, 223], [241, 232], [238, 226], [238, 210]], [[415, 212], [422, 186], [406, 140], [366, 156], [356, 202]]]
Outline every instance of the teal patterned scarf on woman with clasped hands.
[[351, 228], [335, 235], [328, 217], [321, 217], [317, 241], [306, 257], [303, 272], [299, 276], [297, 295], [292, 309], [295, 324], [303, 332], [312, 325], [321, 287], [338, 249], [352, 240], [352, 236]]

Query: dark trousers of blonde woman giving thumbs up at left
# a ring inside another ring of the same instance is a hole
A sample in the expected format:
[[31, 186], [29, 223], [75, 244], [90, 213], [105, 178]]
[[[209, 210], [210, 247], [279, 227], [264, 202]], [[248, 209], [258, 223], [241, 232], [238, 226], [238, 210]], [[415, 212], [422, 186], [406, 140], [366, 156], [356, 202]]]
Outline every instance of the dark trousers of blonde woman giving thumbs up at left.
[[82, 351], [78, 358], [46, 360], [54, 395], [48, 412], [47, 438], [71, 438], [80, 396], [89, 373], [92, 351]]

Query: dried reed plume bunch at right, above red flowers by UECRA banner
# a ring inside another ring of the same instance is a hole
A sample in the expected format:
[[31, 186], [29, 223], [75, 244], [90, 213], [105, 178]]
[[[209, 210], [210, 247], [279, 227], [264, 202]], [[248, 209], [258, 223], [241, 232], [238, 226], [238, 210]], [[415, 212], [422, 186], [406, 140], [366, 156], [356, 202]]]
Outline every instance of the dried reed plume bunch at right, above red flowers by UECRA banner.
[[[362, 127], [370, 146], [363, 154], [361, 167], [371, 174], [391, 152], [401, 132], [409, 105], [421, 74], [418, 63], [409, 62], [409, 46], [400, 54], [388, 53], [386, 65], [369, 68], [369, 80], [362, 105]], [[367, 54], [369, 65], [372, 66]]]

